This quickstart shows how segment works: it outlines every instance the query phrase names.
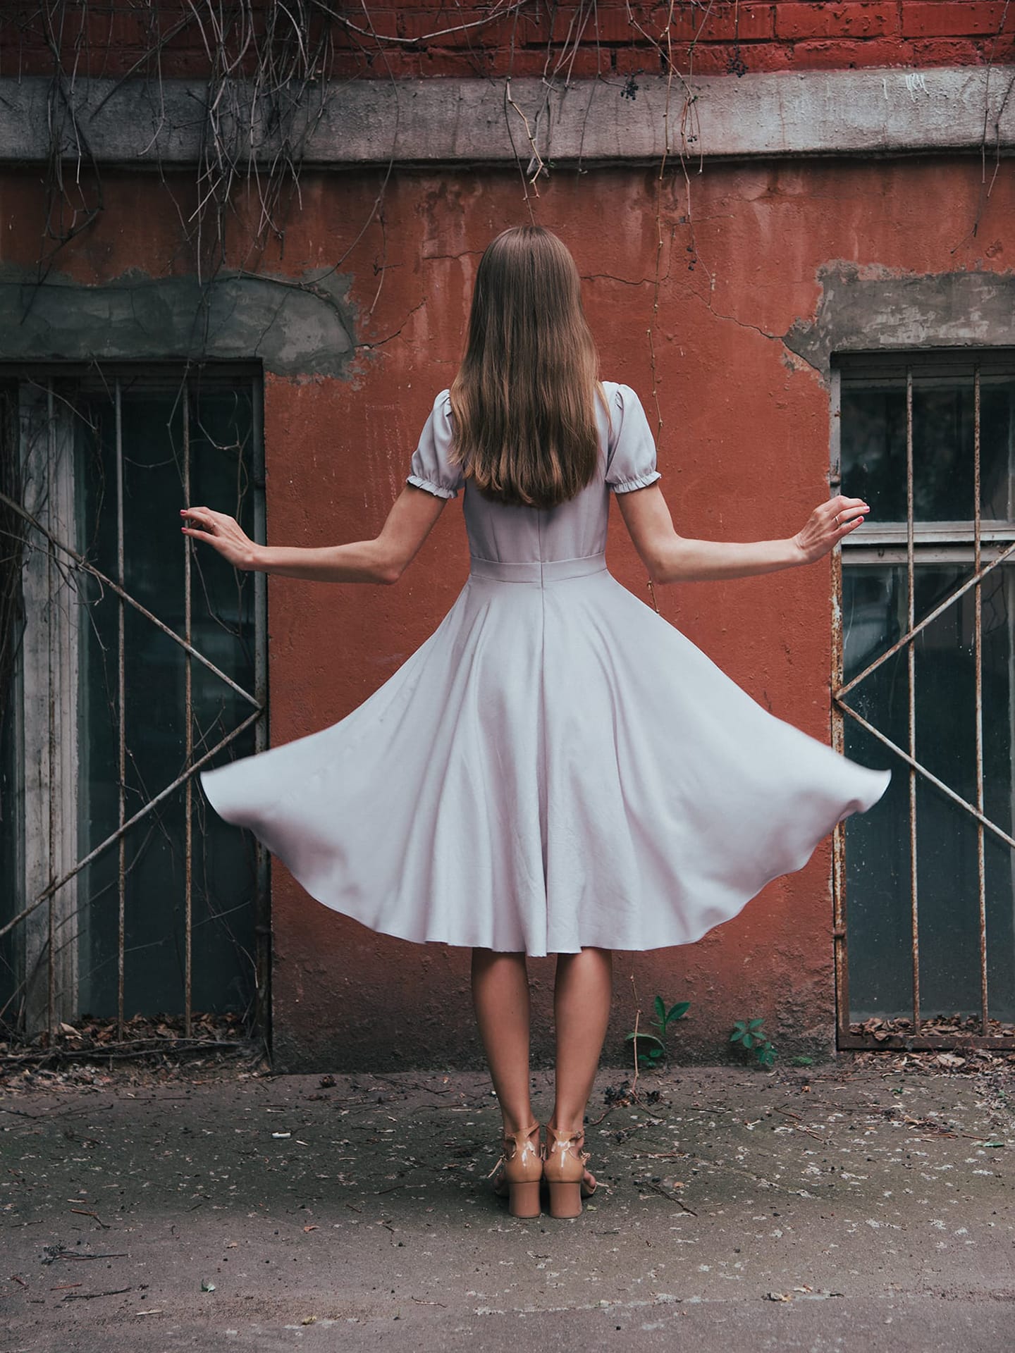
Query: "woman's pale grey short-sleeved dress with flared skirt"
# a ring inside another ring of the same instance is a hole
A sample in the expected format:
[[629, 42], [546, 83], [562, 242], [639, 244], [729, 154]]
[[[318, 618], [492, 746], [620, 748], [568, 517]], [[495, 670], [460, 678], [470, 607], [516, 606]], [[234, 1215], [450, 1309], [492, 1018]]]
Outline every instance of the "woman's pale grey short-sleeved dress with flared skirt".
[[455, 605], [346, 718], [202, 775], [222, 817], [375, 931], [528, 954], [685, 944], [885, 792], [889, 771], [769, 714], [608, 572], [610, 492], [659, 474], [637, 396], [605, 390], [600, 472], [549, 510], [463, 482], [443, 391], [409, 483], [464, 488]]

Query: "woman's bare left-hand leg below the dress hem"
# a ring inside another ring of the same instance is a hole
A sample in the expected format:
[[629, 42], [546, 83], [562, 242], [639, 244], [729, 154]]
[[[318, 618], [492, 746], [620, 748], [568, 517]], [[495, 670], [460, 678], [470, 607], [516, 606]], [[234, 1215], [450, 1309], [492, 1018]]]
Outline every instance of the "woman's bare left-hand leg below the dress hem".
[[532, 1126], [529, 1100], [529, 974], [524, 954], [472, 950], [472, 1005], [505, 1132]]

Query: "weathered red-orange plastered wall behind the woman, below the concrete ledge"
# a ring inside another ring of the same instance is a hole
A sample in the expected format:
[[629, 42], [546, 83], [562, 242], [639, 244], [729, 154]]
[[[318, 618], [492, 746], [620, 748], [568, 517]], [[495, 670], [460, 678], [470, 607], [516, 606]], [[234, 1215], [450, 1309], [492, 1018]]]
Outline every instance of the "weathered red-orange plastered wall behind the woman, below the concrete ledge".
[[[267, 257], [265, 267], [298, 275], [332, 264], [353, 244], [378, 187], [374, 173], [304, 173], [284, 260]], [[828, 391], [773, 336], [815, 313], [817, 269], [832, 260], [916, 273], [1003, 271], [1015, 180], [1000, 175], [972, 237], [980, 187], [974, 160], [710, 165], [696, 181], [700, 261], [689, 269], [682, 180], [670, 180], [655, 352], [662, 483], [682, 533], [758, 538], [803, 524], [828, 491]], [[185, 179], [173, 191], [187, 202]], [[129, 267], [162, 275], [176, 257], [165, 188], [154, 177], [110, 172], [104, 192], [104, 212], [64, 252], [62, 267], [92, 284]], [[604, 375], [632, 384], [650, 410], [654, 200], [655, 170], [608, 169], [556, 176], [535, 203], [578, 260]], [[38, 237], [23, 223], [39, 219], [37, 176], [8, 172], [3, 203], [3, 261], [31, 267]], [[432, 398], [455, 372], [478, 254], [497, 230], [524, 221], [525, 208], [509, 172], [395, 173], [383, 218], [383, 238], [375, 222], [344, 265], [353, 276], [357, 338], [375, 346], [361, 349], [351, 379], [267, 379], [272, 541], [311, 545], [376, 532]], [[610, 566], [646, 597], [644, 572], [614, 518]], [[271, 579], [272, 741], [353, 709], [432, 632], [466, 572], [455, 502], [398, 587]], [[828, 737], [827, 563], [660, 589], [659, 597], [663, 614], [769, 709]], [[831, 1046], [830, 856], [826, 843], [807, 869], [771, 884], [698, 944], [620, 955], [608, 1058], [623, 1055], [633, 1019], [632, 976], [646, 1005], [655, 992], [693, 1003], [679, 1030], [687, 1055], [720, 1054], [731, 1022], [744, 1015]], [[375, 936], [311, 901], [280, 865], [272, 897], [280, 1066], [478, 1058], [466, 950]], [[536, 961], [533, 976], [536, 1047], [545, 1051], [552, 959]]]

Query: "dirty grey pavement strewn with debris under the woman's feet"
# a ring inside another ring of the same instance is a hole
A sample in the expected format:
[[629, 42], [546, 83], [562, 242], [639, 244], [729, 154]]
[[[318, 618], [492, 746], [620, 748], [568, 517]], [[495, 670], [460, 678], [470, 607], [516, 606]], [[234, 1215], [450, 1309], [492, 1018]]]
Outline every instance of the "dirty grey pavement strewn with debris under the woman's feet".
[[590, 1103], [583, 1216], [522, 1222], [482, 1074], [7, 1074], [3, 1346], [1012, 1348], [1011, 1058], [624, 1080]]

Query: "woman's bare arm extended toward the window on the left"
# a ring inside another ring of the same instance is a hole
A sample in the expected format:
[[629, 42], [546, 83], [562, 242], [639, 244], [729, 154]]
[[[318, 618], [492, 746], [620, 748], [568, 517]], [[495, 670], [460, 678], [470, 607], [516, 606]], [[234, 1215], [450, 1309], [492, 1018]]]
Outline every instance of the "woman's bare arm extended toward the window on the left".
[[323, 583], [397, 583], [429, 536], [447, 499], [406, 484], [380, 534], [348, 545], [258, 545], [240, 522], [211, 507], [184, 507], [184, 536], [204, 540], [237, 568]]

